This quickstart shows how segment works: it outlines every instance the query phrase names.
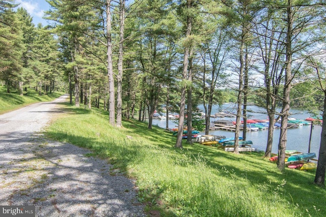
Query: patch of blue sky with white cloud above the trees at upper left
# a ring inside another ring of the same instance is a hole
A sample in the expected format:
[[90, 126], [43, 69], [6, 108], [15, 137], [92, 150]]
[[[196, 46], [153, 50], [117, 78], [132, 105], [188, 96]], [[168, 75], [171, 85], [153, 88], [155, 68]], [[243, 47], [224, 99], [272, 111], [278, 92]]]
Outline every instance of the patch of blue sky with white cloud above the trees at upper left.
[[47, 25], [48, 21], [42, 19], [44, 11], [49, 9], [49, 4], [45, 0], [16, 0], [16, 4], [20, 4], [19, 8], [24, 8], [33, 17], [33, 23], [37, 25], [42, 23], [43, 26]]

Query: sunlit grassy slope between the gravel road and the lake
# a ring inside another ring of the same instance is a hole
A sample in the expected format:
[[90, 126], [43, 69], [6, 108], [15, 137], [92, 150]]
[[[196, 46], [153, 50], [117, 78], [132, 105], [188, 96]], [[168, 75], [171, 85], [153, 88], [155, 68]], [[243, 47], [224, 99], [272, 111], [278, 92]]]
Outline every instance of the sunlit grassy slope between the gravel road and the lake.
[[324, 216], [325, 189], [312, 182], [315, 170], [286, 168], [262, 153], [233, 154], [200, 144], [174, 148], [175, 137], [146, 123], [108, 124], [100, 110], [68, 104], [48, 136], [86, 147], [137, 179], [139, 200], [161, 216]]

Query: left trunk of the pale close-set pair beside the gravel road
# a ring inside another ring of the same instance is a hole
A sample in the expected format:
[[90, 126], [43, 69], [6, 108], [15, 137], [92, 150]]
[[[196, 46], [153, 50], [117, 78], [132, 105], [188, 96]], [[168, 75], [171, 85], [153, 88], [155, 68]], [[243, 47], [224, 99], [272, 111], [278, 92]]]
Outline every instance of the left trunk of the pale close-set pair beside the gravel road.
[[114, 92], [114, 77], [112, 64], [112, 36], [111, 36], [111, 2], [106, 0], [106, 57], [107, 57], [107, 76], [108, 76], [108, 94], [109, 94], [109, 122], [115, 126], [115, 92]]

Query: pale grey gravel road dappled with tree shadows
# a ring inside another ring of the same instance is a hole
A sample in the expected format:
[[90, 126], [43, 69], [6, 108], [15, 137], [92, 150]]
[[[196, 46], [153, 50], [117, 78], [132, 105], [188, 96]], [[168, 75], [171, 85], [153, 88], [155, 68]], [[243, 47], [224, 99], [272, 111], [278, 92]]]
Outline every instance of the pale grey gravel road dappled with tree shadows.
[[0, 205], [35, 205], [36, 216], [146, 216], [134, 182], [89, 150], [46, 140], [55, 101], [0, 115]]

